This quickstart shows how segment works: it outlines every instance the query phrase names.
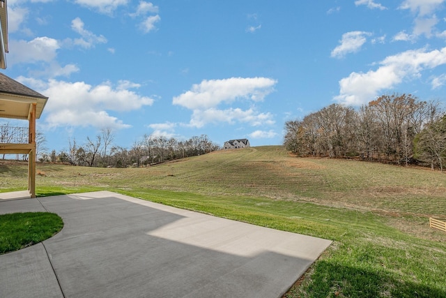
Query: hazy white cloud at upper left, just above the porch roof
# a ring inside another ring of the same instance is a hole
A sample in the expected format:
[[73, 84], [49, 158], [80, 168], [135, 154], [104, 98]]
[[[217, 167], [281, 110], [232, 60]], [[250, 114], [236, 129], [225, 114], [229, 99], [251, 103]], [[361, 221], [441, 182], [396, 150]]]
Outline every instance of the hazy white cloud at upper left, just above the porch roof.
[[49, 37], [38, 37], [31, 41], [10, 40], [8, 64], [49, 62], [56, 57], [60, 45], [57, 40]]

